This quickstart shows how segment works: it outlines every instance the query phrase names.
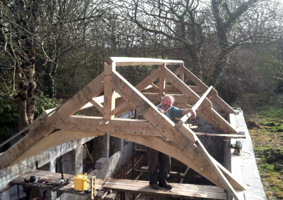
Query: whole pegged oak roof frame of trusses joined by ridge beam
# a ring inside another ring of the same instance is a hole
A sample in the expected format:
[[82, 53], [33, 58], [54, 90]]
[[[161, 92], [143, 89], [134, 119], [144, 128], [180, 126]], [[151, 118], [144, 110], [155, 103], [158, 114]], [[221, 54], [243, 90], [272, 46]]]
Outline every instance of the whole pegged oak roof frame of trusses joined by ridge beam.
[[[118, 66], [133, 65], [159, 65], [159, 68], [133, 87], [115, 70]], [[179, 68], [171, 72], [167, 65], [179, 65]], [[184, 76], [196, 86], [186, 85]], [[158, 79], [159, 82], [154, 84]], [[166, 85], [168, 82], [171, 84]], [[140, 143], [168, 154], [217, 186], [225, 188], [238, 200], [235, 189], [245, 190], [245, 187], [208, 154], [187, 125], [180, 122], [176, 127], [152, 103], [160, 102], [164, 94], [171, 94], [177, 107], [192, 108], [191, 105], [200, 104], [196, 110], [198, 116], [208, 120], [225, 134], [238, 134], [237, 130], [212, 108], [212, 103], [227, 114], [235, 111], [217, 96], [214, 88], [209, 89], [205, 94], [207, 96], [200, 102], [200, 96], [208, 87], [184, 67], [181, 60], [109, 58], [104, 62], [103, 73], [0, 155], [0, 168], [13, 165], [62, 142], [110, 133], [113, 137]], [[97, 97], [102, 91], [104, 96]], [[141, 93], [142, 91], [145, 92]], [[96, 107], [103, 117], [73, 116], [76, 111], [90, 107]], [[133, 108], [147, 120], [114, 119], [115, 115]], [[50, 134], [55, 129], [61, 130]]]

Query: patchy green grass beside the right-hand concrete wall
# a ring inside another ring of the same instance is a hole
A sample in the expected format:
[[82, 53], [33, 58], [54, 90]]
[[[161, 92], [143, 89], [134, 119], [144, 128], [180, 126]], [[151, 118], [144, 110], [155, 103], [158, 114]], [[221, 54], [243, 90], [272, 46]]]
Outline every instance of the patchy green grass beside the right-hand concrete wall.
[[283, 200], [283, 170], [274, 169], [283, 164], [283, 109], [262, 109], [256, 115], [246, 115], [246, 124], [267, 200]]

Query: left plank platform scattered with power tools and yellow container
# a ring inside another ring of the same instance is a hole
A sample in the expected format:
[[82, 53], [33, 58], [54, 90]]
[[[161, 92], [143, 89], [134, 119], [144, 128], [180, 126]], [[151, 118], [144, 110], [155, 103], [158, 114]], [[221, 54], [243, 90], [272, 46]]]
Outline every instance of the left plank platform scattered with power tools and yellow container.
[[[29, 179], [31, 176], [35, 176], [36, 179], [38, 179], [40, 177], [40, 179], [47, 180], [49, 183], [53, 183], [53, 182], [55, 182], [55, 181], [57, 181], [61, 178], [60, 173], [53, 173], [53, 172], [47, 172], [47, 171], [32, 169], [31, 171], [28, 171], [27, 173], [19, 176], [17, 179], [12, 180], [11, 184], [24, 185], [24, 186], [27, 186], [27, 187], [35, 187], [35, 188], [40, 188], [40, 189], [43, 189], [43, 190], [45, 189], [49, 193], [50, 193], [50, 190], [54, 188], [53, 186], [48, 186], [48, 185], [42, 185], [41, 187], [38, 187], [38, 185], [40, 183], [37, 183], [35, 186], [33, 186], [33, 184], [34, 184], [33, 182], [31, 182], [31, 183], [30, 182], [29, 183], [24, 182], [24, 179]], [[69, 178], [70, 176], [71, 175], [69, 175], [69, 174], [64, 174], [65, 179]], [[91, 198], [91, 194], [84, 193], [83, 191], [76, 191], [74, 189], [70, 190], [70, 187], [75, 183], [74, 178], [75, 178], [75, 176], [70, 178], [69, 180], [72, 180], [72, 182], [69, 183], [68, 185], [61, 187], [60, 189], [58, 189], [58, 191], [62, 191], [64, 193], [68, 193], [68, 194], [85, 196], [85, 197]], [[88, 178], [87, 181], [89, 183], [92, 183], [92, 177]], [[106, 182], [106, 180], [96, 179], [96, 181], [95, 181], [96, 189], [103, 189], [103, 185], [105, 184], [105, 182]], [[87, 184], [87, 188], [92, 188], [89, 183]], [[98, 191], [96, 191], [96, 194], [97, 193], [98, 193]], [[118, 192], [113, 191], [112, 194], [107, 194], [104, 199], [114, 200], [117, 193]], [[99, 200], [101, 199], [100, 197], [102, 197], [103, 194], [104, 194], [103, 192], [99, 193]]]

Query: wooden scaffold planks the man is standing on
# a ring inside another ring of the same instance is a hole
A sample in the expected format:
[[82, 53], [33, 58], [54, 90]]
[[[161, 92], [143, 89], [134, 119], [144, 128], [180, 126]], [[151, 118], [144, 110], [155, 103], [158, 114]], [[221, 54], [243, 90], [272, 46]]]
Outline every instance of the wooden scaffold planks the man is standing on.
[[171, 190], [160, 188], [154, 190], [149, 185], [148, 181], [140, 180], [121, 180], [109, 178], [104, 188], [114, 191], [139, 193], [144, 195], [154, 195], [163, 197], [185, 198], [190, 200], [227, 200], [227, 195], [224, 189], [217, 186], [208, 185], [191, 185], [170, 183], [173, 185]]

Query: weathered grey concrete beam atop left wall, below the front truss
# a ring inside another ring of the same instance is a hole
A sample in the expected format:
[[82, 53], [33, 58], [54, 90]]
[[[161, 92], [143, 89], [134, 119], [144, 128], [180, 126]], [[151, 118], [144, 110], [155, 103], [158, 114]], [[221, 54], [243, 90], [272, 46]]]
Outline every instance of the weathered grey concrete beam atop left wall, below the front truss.
[[[78, 145], [94, 139], [94, 137], [88, 137], [78, 140], [71, 140], [56, 146], [50, 147], [44, 151], [39, 152], [25, 160], [21, 160], [17, 164], [5, 167], [0, 170], [0, 189], [6, 187], [11, 180], [16, 179], [20, 175], [30, 171], [32, 168], [36, 168], [36, 161], [38, 161], [38, 167], [41, 167], [48, 162], [57, 159], [58, 157], [68, 153], [75, 149]], [[21, 164], [20, 164], [21, 163]], [[26, 165], [26, 166], [24, 166]]]

